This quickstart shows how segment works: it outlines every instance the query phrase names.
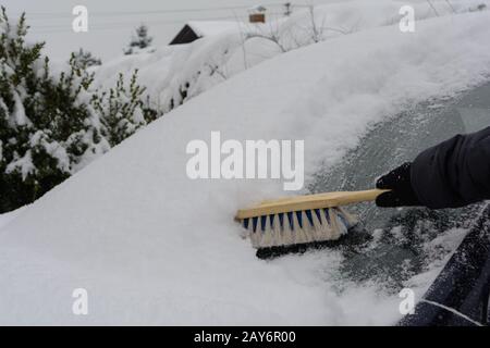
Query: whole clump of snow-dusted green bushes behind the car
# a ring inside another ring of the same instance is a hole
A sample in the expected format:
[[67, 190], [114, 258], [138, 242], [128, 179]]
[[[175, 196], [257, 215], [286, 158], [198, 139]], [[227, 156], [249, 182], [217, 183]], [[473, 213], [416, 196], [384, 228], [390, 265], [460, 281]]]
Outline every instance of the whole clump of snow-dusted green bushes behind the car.
[[136, 75], [127, 91], [121, 83], [107, 96], [90, 89], [94, 73], [75, 54], [52, 74], [44, 44], [25, 41], [27, 29], [24, 15], [12, 25], [2, 8], [0, 213], [34, 201], [157, 115]]

